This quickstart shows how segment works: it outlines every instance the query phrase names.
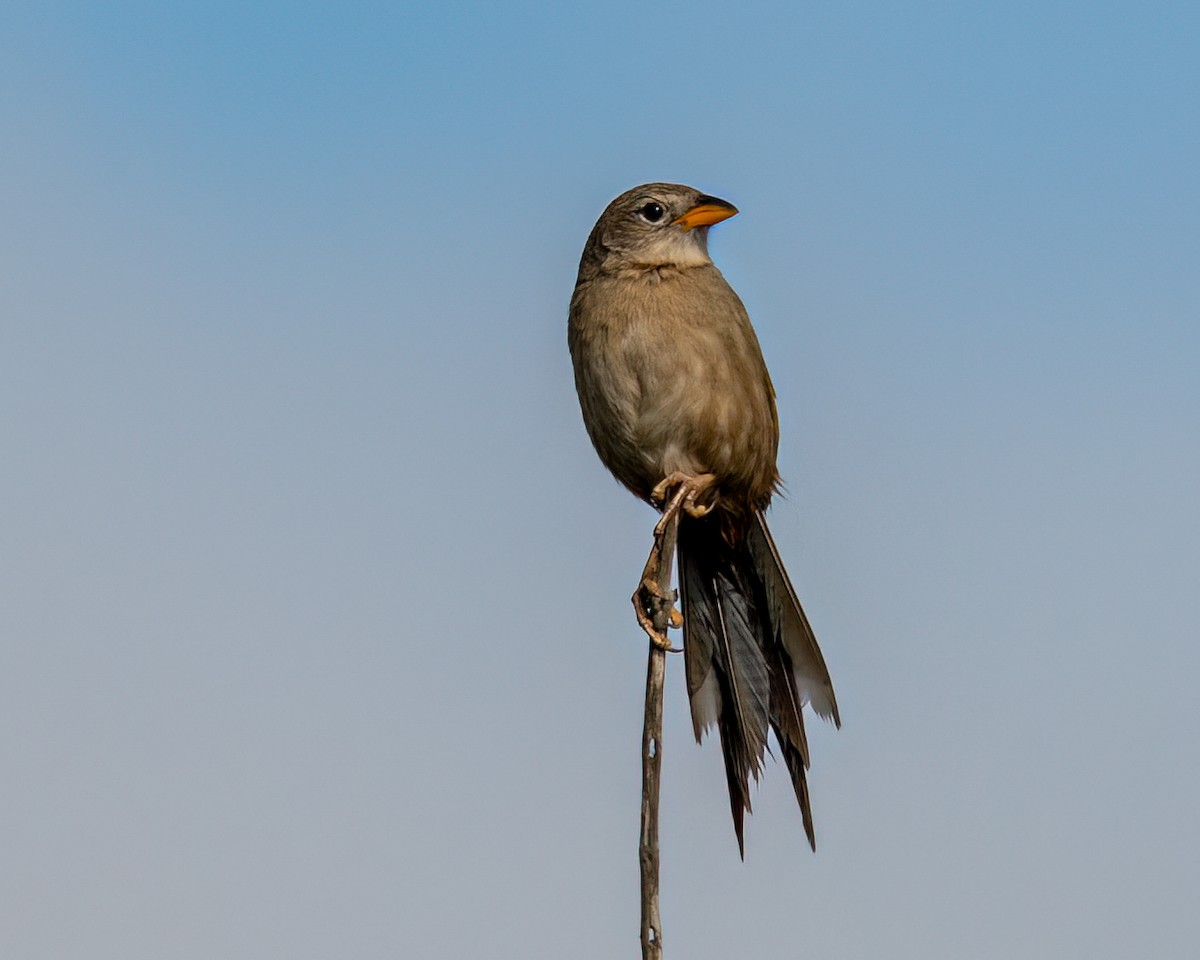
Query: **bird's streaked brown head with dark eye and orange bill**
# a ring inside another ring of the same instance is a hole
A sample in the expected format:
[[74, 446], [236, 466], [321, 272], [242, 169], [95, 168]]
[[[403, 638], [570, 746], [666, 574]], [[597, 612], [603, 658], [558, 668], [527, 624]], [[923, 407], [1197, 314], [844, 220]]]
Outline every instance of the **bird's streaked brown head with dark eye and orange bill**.
[[738, 212], [716, 197], [682, 184], [643, 184], [608, 204], [583, 251], [594, 268], [704, 266], [708, 228]]

